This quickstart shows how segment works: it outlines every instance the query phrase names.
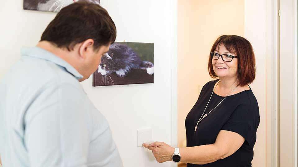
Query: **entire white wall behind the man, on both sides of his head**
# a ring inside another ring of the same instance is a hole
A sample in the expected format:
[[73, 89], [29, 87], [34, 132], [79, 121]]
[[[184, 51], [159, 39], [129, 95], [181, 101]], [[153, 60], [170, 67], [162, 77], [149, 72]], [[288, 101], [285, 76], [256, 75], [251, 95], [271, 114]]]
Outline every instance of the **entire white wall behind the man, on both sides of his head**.
[[[171, 141], [171, 60], [173, 47], [172, 1], [101, 0], [117, 27], [116, 41], [154, 42], [154, 84], [92, 87], [92, 77], [82, 83], [95, 106], [110, 123], [124, 166], [158, 164], [150, 151], [137, 148], [136, 129], [150, 126], [153, 140]], [[0, 78], [20, 58], [22, 46], [37, 44], [55, 13], [25, 11], [23, 1], [3, 1], [0, 6]], [[175, 36], [175, 35], [174, 35]]]

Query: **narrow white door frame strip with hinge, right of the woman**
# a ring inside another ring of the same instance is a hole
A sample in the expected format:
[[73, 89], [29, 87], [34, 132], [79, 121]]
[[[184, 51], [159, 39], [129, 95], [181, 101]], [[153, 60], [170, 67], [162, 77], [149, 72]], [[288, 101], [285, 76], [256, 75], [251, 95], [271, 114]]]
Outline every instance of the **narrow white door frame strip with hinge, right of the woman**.
[[266, 166], [279, 167], [279, 0], [266, 1]]

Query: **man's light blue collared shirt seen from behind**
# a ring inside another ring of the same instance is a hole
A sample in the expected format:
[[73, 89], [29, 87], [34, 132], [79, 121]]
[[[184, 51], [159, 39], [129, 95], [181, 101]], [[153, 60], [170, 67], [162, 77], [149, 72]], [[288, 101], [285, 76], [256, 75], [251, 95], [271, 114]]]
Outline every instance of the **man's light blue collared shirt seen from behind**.
[[122, 167], [108, 122], [83, 76], [54, 54], [22, 49], [0, 81], [3, 167]]

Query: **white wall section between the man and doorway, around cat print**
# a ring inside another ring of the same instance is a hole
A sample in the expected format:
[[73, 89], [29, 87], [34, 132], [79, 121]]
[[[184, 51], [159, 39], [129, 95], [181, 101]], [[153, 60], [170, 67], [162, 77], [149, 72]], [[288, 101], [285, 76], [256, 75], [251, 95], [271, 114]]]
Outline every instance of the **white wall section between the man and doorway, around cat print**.
[[101, 1], [116, 24], [117, 41], [154, 42], [154, 84], [93, 88], [92, 79], [83, 83], [111, 124], [124, 166], [169, 166], [136, 147], [136, 129], [151, 126], [154, 140], [171, 143], [170, 1]]

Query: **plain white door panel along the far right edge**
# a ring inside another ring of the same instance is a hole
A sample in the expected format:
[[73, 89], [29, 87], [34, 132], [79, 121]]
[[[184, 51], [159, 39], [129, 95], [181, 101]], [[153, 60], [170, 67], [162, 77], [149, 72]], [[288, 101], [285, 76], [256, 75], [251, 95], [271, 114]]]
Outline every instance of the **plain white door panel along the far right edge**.
[[280, 166], [297, 167], [297, 0], [280, 10]]

